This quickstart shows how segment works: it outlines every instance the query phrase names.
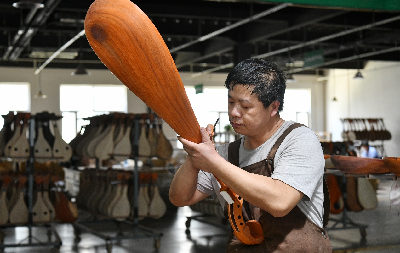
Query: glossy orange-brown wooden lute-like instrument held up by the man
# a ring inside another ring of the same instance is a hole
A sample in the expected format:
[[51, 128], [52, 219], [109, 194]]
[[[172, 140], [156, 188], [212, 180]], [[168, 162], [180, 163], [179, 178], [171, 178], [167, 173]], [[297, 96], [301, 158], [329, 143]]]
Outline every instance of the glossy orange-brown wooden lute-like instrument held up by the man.
[[[200, 126], [168, 47], [140, 8], [129, 0], [96, 0], [86, 14], [85, 32], [93, 51], [124, 85], [182, 138], [202, 141]], [[237, 198], [240, 197], [236, 195]], [[234, 229], [236, 219], [230, 216]], [[238, 239], [245, 244], [262, 243], [261, 224], [246, 224], [240, 227], [243, 230], [236, 230]]]

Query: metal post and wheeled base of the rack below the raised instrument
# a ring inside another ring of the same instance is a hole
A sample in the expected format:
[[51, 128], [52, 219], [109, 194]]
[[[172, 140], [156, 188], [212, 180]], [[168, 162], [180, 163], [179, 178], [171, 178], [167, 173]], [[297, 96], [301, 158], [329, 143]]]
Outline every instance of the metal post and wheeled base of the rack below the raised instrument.
[[[134, 160], [135, 160], [135, 166], [134, 166], [134, 194], [133, 194], [133, 220], [128, 221], [128, 220], [122, 220], [118, 221], [116, 219], [110, 219], [104, 215], [99, 215], [97, 213], [93, 212], [87, 212], [90, 213], [92, 216], [92, 220], [90, 221], [76, 221], [72, 225], [74, 226], [74, 234], [75, 234], [75, 241], [80, 241], [80, 234], [82, 231], [92, 233], [93, 235], [96, 235], [104, 241], [106, 241], [106, 249], [108, 253], [112, 252], [112, 243], [113, 241], [120, 241], [123, 239], [138, 239], [138, 238], [146, 238], [146, 237], [153, 237], [154, 238], [154, 249], [158, 251], [160, 248], [160, 237], [162, 236], [162, 233], [159, 231], [156, 231], [154, 229], [151, 229], [149, 227], [143, 226], [139, 224], [139, 219], [138, 219], [138, 193], [139, 193], [139, 186], [138, 186], [138, 160], [139, 160], [139, 154], [138, 154], [138, 142], [139, 142], [139, 118], [135, 117], [134, 119], [134, 148], [135, 148], [135, 153], [134, 153]], [[99, 160], [96, 159], [96, 168], [99, 168]], [[99, 222], [113, 222], [117, 233], [115, 235], [109, 235], [106, 233], [102, 233], [99, 231], [96, 231], [90, 225], [94, 223], [99, 223]], [[128, 224], [130, 225], [130, 230], [129, 231], [124, 231], [123, 230], [123, 224]]]

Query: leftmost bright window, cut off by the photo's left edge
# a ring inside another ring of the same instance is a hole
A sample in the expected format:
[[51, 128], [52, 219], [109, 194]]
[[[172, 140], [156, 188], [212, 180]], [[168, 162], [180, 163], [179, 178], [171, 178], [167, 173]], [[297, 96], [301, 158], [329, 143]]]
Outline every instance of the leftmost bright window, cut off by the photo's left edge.
[[[1, 83], [0, 114], [5, 115], [9, 111], [30, 111], [29, 83]], [[7, 94], [7, 95], [4, 95]], [[4, 125], [4, 119], [0, 117], [0, 129]]]

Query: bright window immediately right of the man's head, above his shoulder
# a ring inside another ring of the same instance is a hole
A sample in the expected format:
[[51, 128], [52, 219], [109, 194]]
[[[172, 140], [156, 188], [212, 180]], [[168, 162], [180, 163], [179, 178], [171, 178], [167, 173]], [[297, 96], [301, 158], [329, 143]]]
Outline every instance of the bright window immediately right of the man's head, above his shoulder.
[[280, 117], [309, 126], [311, 114], [311, 91], [309, 89], [286, 89], [284, 106]]

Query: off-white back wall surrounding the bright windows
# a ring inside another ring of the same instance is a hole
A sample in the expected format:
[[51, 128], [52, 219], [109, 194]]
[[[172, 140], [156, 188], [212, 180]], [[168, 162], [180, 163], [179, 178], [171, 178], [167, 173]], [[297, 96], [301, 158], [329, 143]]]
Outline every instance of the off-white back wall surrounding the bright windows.
[[[34, 68], [0, 67], [0, 82], [27, 82], [30, 83], [31, 112], [49, 111], [60, 114], [60, 84], [122, 84], [108, 69], [88, 69], [91, 75], [72, 76], [74, 69], [45, 68], [41, 72], [42, 91], [46, 99], [35, 98], [38, 92], [37, 76]], [[204, 87], [223, 87], [226, 73], [210, 73], [192, 78], [191, 73], [180, 73], [185, 86], [194, 86], [202, 83]], [[316, 81], [314, 75], [295, 75], [297, 83], [288, 83], [288, 88], [306, 88], [312, 93], [312, 129], [322, 131], [325, 129], [324, 117], [324, 85]], [[128, 113], [147, 113], [147, 106], [128, 90]], [[167, 126], [163, 130], [168, 139], [176, 139], [176, 133]]]

